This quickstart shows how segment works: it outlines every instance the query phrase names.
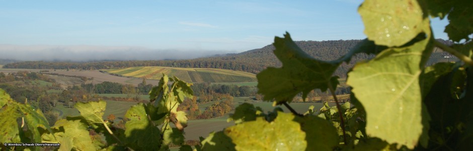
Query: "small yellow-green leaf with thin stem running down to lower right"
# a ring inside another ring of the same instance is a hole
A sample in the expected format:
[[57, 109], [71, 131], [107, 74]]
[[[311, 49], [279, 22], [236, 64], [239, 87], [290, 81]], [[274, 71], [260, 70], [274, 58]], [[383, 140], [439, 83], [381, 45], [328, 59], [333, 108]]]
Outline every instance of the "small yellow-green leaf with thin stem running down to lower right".
[[79, 110], [81, 116], [87, 120], [90, 124], [103, 123], [103, 116], [107, 102], [78, 102], [74, 107]]

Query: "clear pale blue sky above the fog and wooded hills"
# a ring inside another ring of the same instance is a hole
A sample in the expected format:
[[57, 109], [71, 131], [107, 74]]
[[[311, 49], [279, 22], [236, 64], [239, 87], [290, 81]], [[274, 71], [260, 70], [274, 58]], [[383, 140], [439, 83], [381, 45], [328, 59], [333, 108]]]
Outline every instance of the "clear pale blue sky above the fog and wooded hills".
[[[0, 44], [242, 52], [294, 40], [363, 39], [362, 1], [2, 1]], [[446, 22], [432, 22], [436, 38]]]

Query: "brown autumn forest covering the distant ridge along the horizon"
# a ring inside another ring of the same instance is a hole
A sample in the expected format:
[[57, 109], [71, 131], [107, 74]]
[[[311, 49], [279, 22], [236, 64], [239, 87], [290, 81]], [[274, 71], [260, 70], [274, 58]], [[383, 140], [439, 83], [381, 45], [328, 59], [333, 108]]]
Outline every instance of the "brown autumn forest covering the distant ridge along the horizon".
[[[330, 41], [296, 41], [295, 43], [310, 56], [321, 60], [335, 60], [361, 40], [330, 40]], [[451, 45], [450, 41], [438, 39], [438, 41]], [[258, 73], [268, 66], [280, 67], [281, 62], [273, 54], [273, 45], [253, 49], [241, 53], [226, 54], [224, 56], [213, 56], [186, 60], [131, 60], [131, 61], [98, 61], [98, 62], [47, 62], [47, 61], [25, 61], [14, 62], [4, 65], [4, 68], [36, 68], [36, 69], [112, 69], [134, 66], [170, 66], [170, 67], [197, 67], [197, 68], [222, 68]], [[435, 51], [434, 62], [449, 61], [448, 53]], [[335, 75], [345, 77], [348, 70], [357, 61], [369, 59], [373, 56], [361, 54], [352, 58], [348, 64], [342, 64]], [[447, 59], [444, 59], [447, 58]], [[430, 62], [431, 64], [433, 62]]]

